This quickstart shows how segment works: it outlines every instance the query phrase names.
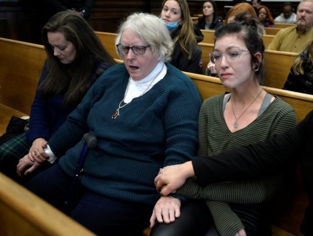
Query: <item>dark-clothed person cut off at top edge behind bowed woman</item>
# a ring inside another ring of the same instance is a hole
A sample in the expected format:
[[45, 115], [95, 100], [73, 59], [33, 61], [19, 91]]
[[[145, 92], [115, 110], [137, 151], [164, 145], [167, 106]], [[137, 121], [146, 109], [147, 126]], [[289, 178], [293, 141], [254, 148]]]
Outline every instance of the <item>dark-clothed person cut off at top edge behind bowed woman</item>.
[[52, 12], [71, 11], [89, 19], [94, 0], [46, 0]]

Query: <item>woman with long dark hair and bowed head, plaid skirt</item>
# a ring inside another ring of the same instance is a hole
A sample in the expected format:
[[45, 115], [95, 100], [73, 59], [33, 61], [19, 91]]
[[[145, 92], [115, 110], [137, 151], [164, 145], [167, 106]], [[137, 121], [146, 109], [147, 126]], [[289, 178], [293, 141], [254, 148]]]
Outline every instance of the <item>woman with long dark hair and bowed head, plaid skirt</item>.
[[[42, 29], [47, 60], [31, 107], [29, 130], [0, 146], [0, 171], [20, 182], [20, 158], [45, 157], [44, 147], [82, 100], [89, 87], [115, 65], [103, 44], [78, 14], [62, 11]], [[50, 165], [46, 165], [49, 167]]]

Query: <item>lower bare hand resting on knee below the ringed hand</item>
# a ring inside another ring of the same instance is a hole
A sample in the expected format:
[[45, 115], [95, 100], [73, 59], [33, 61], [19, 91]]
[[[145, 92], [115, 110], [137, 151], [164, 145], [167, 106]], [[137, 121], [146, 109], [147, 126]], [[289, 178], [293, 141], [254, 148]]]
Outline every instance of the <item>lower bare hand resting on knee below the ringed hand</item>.
[[[169, 224], [180, 216], [180, 200], [174, 197], [161, 197], [155, 204], [150, 218], [150, 227], [155, 225], [156, 220], [159, 223]], [[241, 235], [240, 235], [241, 236]]]

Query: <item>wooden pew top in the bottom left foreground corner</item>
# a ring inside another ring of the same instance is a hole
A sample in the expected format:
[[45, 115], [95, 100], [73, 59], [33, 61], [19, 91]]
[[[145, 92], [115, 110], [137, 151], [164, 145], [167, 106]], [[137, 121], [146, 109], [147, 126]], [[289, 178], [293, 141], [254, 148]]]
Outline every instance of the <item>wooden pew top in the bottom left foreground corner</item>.
[[0, 173], [0, 235], [95, 236]]

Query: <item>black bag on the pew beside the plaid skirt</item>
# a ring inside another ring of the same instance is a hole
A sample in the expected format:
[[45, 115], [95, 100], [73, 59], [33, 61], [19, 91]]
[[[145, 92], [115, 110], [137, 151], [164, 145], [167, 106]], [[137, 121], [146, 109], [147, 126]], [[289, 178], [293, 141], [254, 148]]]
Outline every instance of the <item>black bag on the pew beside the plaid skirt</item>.
[[28, 129], [29, 119], [21, 119], [19, 117], [12, 116], [8, 123], [6, 133], [0, 137], [0, 145], [26, 132]]

